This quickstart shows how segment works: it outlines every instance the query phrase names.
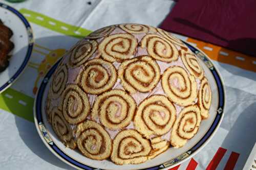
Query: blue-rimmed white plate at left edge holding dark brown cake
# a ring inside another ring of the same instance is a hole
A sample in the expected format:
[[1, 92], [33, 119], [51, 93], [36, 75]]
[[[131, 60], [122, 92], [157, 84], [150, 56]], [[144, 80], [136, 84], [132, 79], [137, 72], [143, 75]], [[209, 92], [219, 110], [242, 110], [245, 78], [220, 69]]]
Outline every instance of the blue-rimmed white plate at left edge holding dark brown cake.
[[14, 43], [9, 66], [0, 72], [0, 93], [7, 89], [22, 74], [33, 48], [33, 34], [29, 22], [14, 8], [0, 3], [0, 19], [9, 27]]

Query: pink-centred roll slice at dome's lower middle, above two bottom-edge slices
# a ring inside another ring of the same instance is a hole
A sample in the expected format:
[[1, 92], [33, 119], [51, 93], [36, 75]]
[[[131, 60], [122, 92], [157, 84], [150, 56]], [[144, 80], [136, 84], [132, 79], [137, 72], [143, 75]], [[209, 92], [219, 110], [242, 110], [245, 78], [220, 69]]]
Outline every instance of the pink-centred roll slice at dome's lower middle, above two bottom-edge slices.
[[131, 123], [136, 103], [123, 90], [110, 90], [99, 95], [93, 104], [92, 119], [109, 129], [119, 130]]

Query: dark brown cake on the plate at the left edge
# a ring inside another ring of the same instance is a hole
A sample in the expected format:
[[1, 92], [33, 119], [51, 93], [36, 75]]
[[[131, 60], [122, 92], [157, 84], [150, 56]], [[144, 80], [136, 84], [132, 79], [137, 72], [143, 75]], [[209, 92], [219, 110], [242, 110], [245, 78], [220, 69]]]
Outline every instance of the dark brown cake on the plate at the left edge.
[[0, 20], [0, 72], [4, 71], [9, 65], [10, 56], [8, 54], [14, 47], [13, 42], [10, 41], [12, 35], [12, 30]]

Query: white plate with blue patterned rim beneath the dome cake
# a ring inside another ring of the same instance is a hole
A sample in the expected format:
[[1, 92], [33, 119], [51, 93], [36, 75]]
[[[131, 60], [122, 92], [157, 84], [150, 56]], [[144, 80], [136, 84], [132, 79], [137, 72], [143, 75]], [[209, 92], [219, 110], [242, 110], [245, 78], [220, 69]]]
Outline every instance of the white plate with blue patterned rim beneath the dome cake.
[[174, 167], [183, 161], [189, 159], [198, 153], [219, 128], [221, 120], [224, 116], [223, 110], [225, 106], [225, 89], [216, 67], [212, 65], [209, 58], [197, 48], [187, 44], [201, 60], [205, 75], [209, 80], [212, 90], [212, 103], [210, 107], [210, 116], [203, 120], [198, 133], [194, 138], [190, 139], [184, 147], [179, 149], [169, 148], [166, 152], [160, 154], [152, 160], [148, 160], [141, 164], [116, 165], [110, 160], [97, 161], [89, 159], [77, 150], [66, 148], [55, 135], [53, 129], [49, 125], [45, 114], [45, 99], [49, 90], [49, 80], [56, 69], [57, 62], [48, 72], [44, 81], [38, 90], [34, 105], [34, 120], [37, 131], [47, 148], [62, 161], [70, 164], [78, 169], [168, 169]]

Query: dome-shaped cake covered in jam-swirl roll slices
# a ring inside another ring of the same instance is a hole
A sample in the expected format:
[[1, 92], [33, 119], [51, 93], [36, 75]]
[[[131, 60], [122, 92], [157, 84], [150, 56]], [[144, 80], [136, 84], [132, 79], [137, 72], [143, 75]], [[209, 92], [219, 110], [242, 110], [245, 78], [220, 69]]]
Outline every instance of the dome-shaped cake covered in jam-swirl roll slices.
[[204, 70], [181, 40], [121, 24], [91, 33], [63, 56], [46, 113], [67, 147], [91, 159], [137, 164], [183, 147], [210, 104]]

